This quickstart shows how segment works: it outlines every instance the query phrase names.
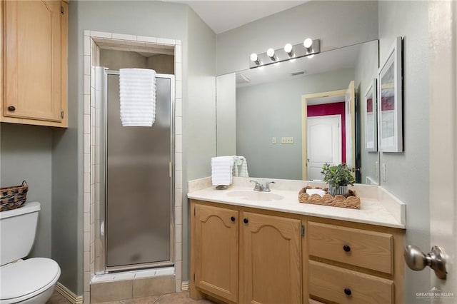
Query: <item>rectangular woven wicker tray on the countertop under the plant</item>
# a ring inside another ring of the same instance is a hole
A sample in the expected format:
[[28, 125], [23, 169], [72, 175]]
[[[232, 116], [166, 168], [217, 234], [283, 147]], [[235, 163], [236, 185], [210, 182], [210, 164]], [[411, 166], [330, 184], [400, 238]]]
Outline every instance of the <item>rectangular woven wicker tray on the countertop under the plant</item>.
[[[327, 194], [324, 196], [319, 196], [318, 194], [311, 194], [311, 196], [306, 193], [306, 189], [321, 189], [326, 191]], [[333, 207], [342, 207], [342, 208], [353, 208], [360, 209], [360, 198], [358, 197], [356, 191], [349, 190], [349, 196], [331, 196], [328, 194], [328, 188], [313, 188], [306, 186], [298, 192], [298, 201], [300, 203], [313, 203], [316, 205], [325, 205]]]

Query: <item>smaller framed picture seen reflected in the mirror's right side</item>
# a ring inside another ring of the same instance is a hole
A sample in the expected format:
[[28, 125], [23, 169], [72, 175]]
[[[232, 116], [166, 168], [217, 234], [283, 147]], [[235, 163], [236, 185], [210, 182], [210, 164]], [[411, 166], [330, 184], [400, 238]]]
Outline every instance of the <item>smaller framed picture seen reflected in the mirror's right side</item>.
[[365, 148], [368, 152], [378, 151], [378, 110], [376, 78], [365, 93]]

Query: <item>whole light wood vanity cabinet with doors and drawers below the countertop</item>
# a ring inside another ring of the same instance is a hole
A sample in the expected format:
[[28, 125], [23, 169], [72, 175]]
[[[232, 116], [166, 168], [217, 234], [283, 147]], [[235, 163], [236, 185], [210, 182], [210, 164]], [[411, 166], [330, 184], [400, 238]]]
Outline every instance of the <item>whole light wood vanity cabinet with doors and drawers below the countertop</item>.
[[403, 303], [404, 230], [191, 199], [191, 297]]

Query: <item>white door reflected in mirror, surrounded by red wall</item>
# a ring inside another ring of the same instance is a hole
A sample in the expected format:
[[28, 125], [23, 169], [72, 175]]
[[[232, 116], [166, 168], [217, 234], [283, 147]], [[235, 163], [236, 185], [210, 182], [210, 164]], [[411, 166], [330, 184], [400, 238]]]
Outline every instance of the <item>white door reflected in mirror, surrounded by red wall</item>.
[[322, 180], [322, 166], [341, 163], [341, 115], [308, 117], [308, 180]]

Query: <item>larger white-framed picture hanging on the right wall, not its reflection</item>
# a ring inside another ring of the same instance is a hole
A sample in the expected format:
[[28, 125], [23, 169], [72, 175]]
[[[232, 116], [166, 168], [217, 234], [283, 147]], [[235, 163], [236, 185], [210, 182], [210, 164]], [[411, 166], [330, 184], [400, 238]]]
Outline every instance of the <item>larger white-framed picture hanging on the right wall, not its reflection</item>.
[[403, 151], [401, 37], [396, 37], [378, 71], [380, 151]]

